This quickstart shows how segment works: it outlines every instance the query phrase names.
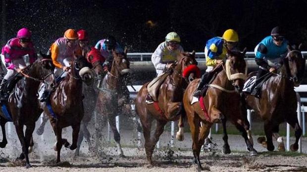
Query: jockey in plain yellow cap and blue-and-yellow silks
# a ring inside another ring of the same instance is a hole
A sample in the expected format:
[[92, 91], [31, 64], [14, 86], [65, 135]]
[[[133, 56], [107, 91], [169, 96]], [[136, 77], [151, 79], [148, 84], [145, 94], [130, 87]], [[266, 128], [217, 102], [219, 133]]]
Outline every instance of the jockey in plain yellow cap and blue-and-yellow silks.
[[194, 92], [194, 97], [201, 96], [201, 92], [205, 84], [209, 82], [209, 80], [216, 72], [219, 72], [222, 69], [215, 67], [224, 63], [227, 49], [236, 49], [238, 41], [239, 36], [237, 32], [232, 29], [226, 30], [223, 34], [223, 37], [213, 37], [207, 40], [205, 44], [205, 65], [207, 66], [207, 69], [206, 72], [203, 74], [201, 81], [197, 86], [197, 89]]

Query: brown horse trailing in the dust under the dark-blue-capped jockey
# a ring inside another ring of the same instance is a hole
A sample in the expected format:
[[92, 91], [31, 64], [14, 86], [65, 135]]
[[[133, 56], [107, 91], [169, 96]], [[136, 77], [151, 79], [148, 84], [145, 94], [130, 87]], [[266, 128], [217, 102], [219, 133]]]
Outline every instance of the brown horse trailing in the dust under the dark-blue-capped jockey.
[[115, 117], [121, 113], [131, 114], [129, 91], [127, 89], [127, 75], [130, 73], [130, 62], [127, 58], [127, 49], [124, 52], [112, 51], [113, 62], [108, 73], [102, 80], [96, 103], [96, 152], [101, 146], [102, 128], [107, 118], [114, 134], [119, 156], [124, 156], [120, 145], [120, 135], [116, 129]]

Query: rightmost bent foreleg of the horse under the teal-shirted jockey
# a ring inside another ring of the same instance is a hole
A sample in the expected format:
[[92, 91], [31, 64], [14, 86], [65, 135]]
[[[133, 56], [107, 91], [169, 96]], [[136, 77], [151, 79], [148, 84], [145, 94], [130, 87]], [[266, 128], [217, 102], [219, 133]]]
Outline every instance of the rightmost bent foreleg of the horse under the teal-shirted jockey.
[[289, 123], [291, 127], [295, 130], [295, 142], [290, 146], [291, 151], [297, 151], [299, 149], [299, 139], [301, 138], [303, 132], [299, 125], [298, 118], [295, 115], [290, 115], [286, 119], [287, 123]]

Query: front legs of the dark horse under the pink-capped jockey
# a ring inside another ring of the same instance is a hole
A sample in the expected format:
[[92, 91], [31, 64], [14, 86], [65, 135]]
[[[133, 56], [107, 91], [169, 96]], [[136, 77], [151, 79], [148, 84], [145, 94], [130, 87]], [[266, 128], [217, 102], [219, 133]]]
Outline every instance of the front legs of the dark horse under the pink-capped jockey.
[[[18, 122], [17, 122], [18, 123]], [[15, 128], [16, 128], [16, 133], [18, 135], [18, 138], [19, 138], [19, 141], [21, 143], [21, 146], [22, 146], [22, 154], [25, 156], [26, 158], [26, 168], [30, 168], [31, 165], [30, 165], [30, 162], [29, 162], [29, 156], [28, 156], [28, 153], [29, 153], [29, 143], [30, 143], [30, 139], [31, 139], [31, 136], [32, 136], [32, 133], [34, 131], [34, 127], [33, 126], [27, 126], [27, 129], [26, 129], [26, 137], [24, 136], [24, 133], [23, 133], [23, 125], [19, 125], [19, 124], [15, 124]], [[19, 158], [22, 158], [21, 156]], [[17, 159], [19, 159], [17, 158]]]

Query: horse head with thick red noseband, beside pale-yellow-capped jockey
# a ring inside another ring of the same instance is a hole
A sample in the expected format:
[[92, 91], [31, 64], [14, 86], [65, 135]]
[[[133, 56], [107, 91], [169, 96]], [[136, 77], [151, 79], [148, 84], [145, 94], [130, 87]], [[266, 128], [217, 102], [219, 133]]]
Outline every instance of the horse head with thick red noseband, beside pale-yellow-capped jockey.
[[201, 70], [197, 67], [198, 63], [195, 59], [195, 51], [180, 54], [175, 64], [177, 65], [174, 67], [174, 71], [179, 73], [187, 83], [201, 76]]

